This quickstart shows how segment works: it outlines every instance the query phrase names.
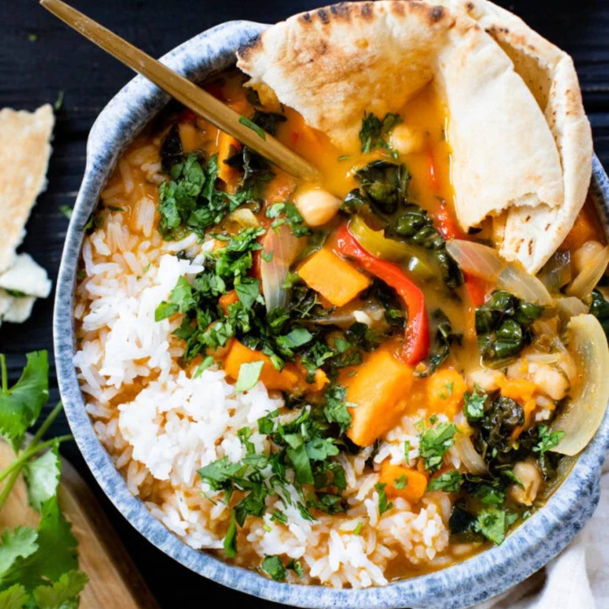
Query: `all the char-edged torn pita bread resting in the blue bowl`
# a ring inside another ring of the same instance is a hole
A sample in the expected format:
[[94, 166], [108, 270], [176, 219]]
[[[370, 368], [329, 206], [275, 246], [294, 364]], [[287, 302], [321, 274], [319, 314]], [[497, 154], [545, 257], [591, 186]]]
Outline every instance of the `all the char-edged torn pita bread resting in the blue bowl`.
[[[571, 59], [490, 2], [438, 4], [381, 0], [295, 15], [239, 49], [238, 66], [249, 86], [265, 97], [272, 89], [346, 152], [365, 112], [399, 112], [433, 80], [448, 107], [459, 224], [507, 214], [502, 254], [537, 272], [590, 180]], [[521, 25], [510, 37], [500, 30], [512, 19]]]

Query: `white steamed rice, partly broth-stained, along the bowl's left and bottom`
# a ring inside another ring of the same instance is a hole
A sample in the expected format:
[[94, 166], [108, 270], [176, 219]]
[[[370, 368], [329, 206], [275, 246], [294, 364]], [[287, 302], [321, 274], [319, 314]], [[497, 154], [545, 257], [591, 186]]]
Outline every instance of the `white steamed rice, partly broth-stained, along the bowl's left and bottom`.
[[[140, 156], [146, 164], [146, 154]], [[121, 171], [128, 177], [128, 166]], [[133, 190], [128, 180], [124, 185], [122, 194], [133, 206], [137, 193], [126, 192]], [[107, 196], [120, 205], [120, 194]], [[94, 429], [129, 490], [192, 547], [222, 551], [229, 513], [222, 493], [201, 482], [197, 469], [224, 456], [240, 460], [245, 453], [237, 431], [244, 426], [253, 429], [250, 440], [257, 451], [268, 449], [256, 421], [283, 401], [269, 396], [261, 383], [236, 394], [222, 370], [209, 368], [198, 378], [181, 370], [176, 361], [183, 350], [171, 336], [179, 322], [155, 322], [154, 312], [178, 277], [194, 278], [202, 270], [200, 251], [206, 245], [194, 236], [164, 243], [153, 230], [154, 201], [144, 196], [135, 205], [137, 230], [133, 222], [127, 227], [121, 213], [111, 213], [103, 228], [85, 238], [86, 277], [77, 287], [74, 312], [82, 340], [74, 365]], [[180, 250], [193, 260], [178, 259]], [[410, 460], [418, 456], [415, 422], [420, 418], [404, 417], [386, 435], [373, 459], [376, 467], [387, 458], [404, 463], [404, 440], [410, 442]], [[452, 561], [441, 554], [448, 546], [447, 496], [428, 493], [417, 509], [398, 498], [379, 516], [378, 474], [364, 471], [370, 455], [368, 448], [339, 457], [347, 474], [347, 513], [309, 522], [295, 505], [286, 508], [269, 498], [270, 511], [281, 509], [287, 524], [275, 523], [269, 513], [248, 516], [239, 530], [236, 561], [252, 566], [264, 555], [283, 554], [300, 560], [305, 571], [304, 578], [288, 571], [289, 581], [335, 588], [384, 585], [385, 568], [398, 556], [413, 565]], [[451, 451], [448, 458], [457, 459]], [[294, 487], [289, 491], [297, 500]]]

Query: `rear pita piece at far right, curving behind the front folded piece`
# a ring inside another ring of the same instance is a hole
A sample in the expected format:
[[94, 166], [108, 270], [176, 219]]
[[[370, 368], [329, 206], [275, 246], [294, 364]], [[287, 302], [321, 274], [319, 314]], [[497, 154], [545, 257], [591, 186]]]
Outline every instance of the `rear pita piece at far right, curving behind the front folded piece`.
[[573, 226], [586, 199], [593, 142], [579, 82], [568, 54], [530, 29], [522, 19], [487, 0], [434, 0], [484, 27], [509, 55], [543, 111], [560, 154], [565, 199], [557, 208], [510, 209], [496, 239], [501, 255], [536, 273]]

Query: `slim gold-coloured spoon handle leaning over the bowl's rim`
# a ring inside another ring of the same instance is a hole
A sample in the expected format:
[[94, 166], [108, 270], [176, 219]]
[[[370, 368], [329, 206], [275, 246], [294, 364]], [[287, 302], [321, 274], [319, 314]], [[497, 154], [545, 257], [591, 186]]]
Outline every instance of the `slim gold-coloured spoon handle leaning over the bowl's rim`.
[[129, 66], [181, 104], [203, 116], [222, 131], [232, 135], [284, 171], [307, 181], [319, 180], [319, 171], [300, 155], [281, 144], [260, 128], [248, 127], [248, 119], [190, 80], [150, 57], [99, 23], [88, 18], [61, 0], [40, 0], [40, 4], [65, 21], [85, 38]]

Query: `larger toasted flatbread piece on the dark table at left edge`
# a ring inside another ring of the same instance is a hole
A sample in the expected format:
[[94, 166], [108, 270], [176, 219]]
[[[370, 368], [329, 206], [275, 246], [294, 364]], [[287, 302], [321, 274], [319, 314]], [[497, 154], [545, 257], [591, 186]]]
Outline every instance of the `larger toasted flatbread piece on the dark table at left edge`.
[[11, 266], [15, 248], [38, 194], [46, 185], [51, 156], [53, 110], [0, 110], [0, 272]]

